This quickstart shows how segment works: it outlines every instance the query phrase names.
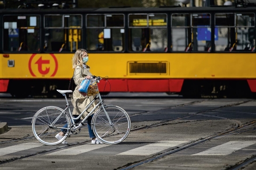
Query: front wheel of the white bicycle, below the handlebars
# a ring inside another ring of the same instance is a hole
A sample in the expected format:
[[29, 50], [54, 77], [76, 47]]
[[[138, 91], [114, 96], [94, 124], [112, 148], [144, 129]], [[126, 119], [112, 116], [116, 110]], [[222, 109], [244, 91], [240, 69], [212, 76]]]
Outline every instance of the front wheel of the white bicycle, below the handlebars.
[[[106, 106], [99, 109], [92, 119], [92, 129], [96, 137], [106, 144], [122, 142], [129, 135], [131, 120], [125, 110], [118, 106]], [[108, 117], [110, 118], [110, 122]]]

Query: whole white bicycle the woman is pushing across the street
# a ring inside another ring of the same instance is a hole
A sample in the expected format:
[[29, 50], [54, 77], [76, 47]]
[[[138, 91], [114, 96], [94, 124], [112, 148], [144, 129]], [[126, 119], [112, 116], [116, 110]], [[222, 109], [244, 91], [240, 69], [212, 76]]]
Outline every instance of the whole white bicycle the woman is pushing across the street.
[[[100, 78], [96, 78], [100, 81]], [[78, 116], [74, 117], [70, 112], [70, 105], [67, 100], [67, 93], [71, 90], [57, 90], [66, 99], [66, 108], [62, 109], [56, 106], [47, 106], [40, 109], [32, 119], [32, 129], [36, 139], [44, 145], [58, 145], [63, 142], [69, 135], [78, 134], [81, 132], [81, 127], [89, 116], [93, 114], [92, 130], [95, 136], [103, 143], [116, 144], [122, 142], [127, 138], [131, 130], [131, 120], [125, 110], [118, 106], [105, 105], [101, 99], [100, 94], [94, 97], [89, 105], [86, 106], [84, 111]], [[94, 106], [92, 111], [79, 124], [75, 124], [84, 112], [94, 103], [95, 100], [99, 101]], [[66, 111], [69, 111], [67, 114]], [[63, 128], [66, 126], [67, 128]], [[65, 137], [61, 140], [55, 138], [55, 135], [65, 129], [67, 132]]]

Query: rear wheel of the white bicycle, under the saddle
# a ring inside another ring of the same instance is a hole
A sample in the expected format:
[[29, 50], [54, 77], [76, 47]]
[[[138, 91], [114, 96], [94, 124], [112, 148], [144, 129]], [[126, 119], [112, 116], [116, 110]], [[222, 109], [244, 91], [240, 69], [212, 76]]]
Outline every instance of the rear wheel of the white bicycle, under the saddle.
[[61, 140], [55, 138], [55, 135], [61, 131], [64, 125], [70, 128], [70, 118], [63, 109], [55, 106], [40, 109], [32, 120], [33, 133], [36, 139], [44, 145], [57, 145], [63, 142], [67, 138], [69, 130]]

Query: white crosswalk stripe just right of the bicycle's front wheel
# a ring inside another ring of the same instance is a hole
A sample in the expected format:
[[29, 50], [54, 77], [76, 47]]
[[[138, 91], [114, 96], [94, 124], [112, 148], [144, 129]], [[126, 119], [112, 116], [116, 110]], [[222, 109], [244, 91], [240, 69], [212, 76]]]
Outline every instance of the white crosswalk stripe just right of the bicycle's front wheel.
[[178, 146], [182, 143], [186, 143], [188, 141], [158, 141], [156, 143], [152, 143], [149, 145], [145, 145], [139, 148], [131, 149], [125, 152], [122, 152], [117, 155], [151, 155], [155, 154], [157, 152], [160, 152], [162, 150]]

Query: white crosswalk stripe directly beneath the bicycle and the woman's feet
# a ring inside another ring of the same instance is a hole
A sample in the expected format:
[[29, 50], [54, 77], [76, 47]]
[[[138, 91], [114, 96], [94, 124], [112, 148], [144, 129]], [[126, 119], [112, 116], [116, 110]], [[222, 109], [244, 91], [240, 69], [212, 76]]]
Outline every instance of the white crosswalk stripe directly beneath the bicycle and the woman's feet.
[[83, 146], [77, 146], [77, 147], [72, 147], [68, 149], [61, 149], [55, 152], [52, 152], [50, 154], [46, 155], [78, 155], [78, 154], [83, 154], [84, 152], [89, 152], [94, 149], [99, 149], [103, 147], [107, 147], [108, 145], [83, 145]]

